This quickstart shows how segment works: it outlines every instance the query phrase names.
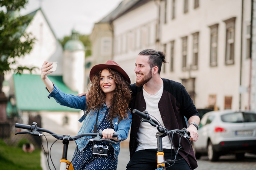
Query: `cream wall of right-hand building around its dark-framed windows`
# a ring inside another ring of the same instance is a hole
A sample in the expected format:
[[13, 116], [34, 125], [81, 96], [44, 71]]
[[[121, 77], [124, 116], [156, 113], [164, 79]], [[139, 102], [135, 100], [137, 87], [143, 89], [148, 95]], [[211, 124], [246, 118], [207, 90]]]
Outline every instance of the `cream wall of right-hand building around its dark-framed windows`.
[[[167, 23], [163, 23], [161, 16], [161, 44], [167, 44], [166, 58], [170, 62], [170, 41], [175, 40], [174, 72], [170, 72], [170, 63], [166, 64], [166, 74], [161, 77], [181, 82], [189, 78], [189, 71], [182, 71], [182, 39], [188, 36], [187, 42], [187, 68], [192, 64], [192, 34], [199, 32], [198, 70], [191, 71], [195, 77], [195, 105], [205, 108], [209, 105], [209, 95], [216, 95], [216, 106], [224, 109], [224, 96], [232, 96], [232, 109], [239, 110], [239, 75], [240, 75], [240, 49], [241, 49], [241, 0], [200, 0], [199, 7], [194, 9], [194, 2], [189, 1], [188, 13], [183, 13], [183, 1], [175, 1], [175, 19], [171, 19], [171, 0], [167, 0]], [[250, 17], [249, 0], [244, 0], [244, 20]], [[163, 7], [163, 4], [162, 4]], [[226, 24], [224, 20], [236, 17], [235, 21], [235, 55], [234, 64], [225, 65], [226, 50]], [[218, 65], [209, 66], [210, 59], [210, 28], [218, 23]], [[245, 23], [244, 23], [245, 24]], [[244, 26], [245, 27], [245, 26]], [[245, 46], [245, 39], [243, 42]], [[245, 47], [244, 47], [245, 48]], [[243, 53], [244, 54], [244, 53]], [[242, 80], [248, 87], [248, 59], [243, 56]], [[242, 94], [242, 107], [245, 109], [248, 94]]]

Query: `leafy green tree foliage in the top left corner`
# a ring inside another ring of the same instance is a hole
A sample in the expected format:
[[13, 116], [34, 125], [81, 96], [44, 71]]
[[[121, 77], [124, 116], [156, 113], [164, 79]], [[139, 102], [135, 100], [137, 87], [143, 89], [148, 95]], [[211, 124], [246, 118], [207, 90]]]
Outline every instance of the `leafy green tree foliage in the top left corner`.
[[[16, 63], [16, 57], [29, 54], [35, 42], [31, 34], [24, 32], [32, 19], [31, 16], [15, 16], [27, 3], [28, 0], [0, 0], [0, 74], [2, 75], [12, 70], [10, 65]], [[17, 72], [24, 69], [28, 68], [14, 68]]]

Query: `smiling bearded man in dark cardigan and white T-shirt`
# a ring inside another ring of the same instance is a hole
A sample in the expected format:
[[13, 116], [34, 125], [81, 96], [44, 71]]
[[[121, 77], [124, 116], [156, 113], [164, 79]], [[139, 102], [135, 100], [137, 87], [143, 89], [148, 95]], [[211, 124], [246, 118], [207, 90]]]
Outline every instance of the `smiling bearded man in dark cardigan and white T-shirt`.
[[[137, 109], [157, 119], [166, 129], [182, 129], [186, 127], [184, 116], [188, 119], [192, 141], [198, 139], [200, 117], [189, 94], [178, 82], [160, 78], [162, 63], [166, 63], [165, 54], [160, 51], [146, 49], [140, 52], [135, 62], [136, 83], [131, 85], [131, 111]], [[85, 94], [85, 93], [84, 93]], [[80, 94], [80, 96], [84, 95]], [[147, 122], [140, 122], [140, 117], [133, 114], [130, 136], [130, 161], [127, 170], [155, 170], [157, 168], [156, 127]], [[173, 149], [178, 148], [179, 138], [173, 137], [173, 148], [168, 137], [163, 138], [165, 159], [175, 159]], [[191, 144], [181, 138], [182, 148], [179, 150], [175, 164], [166, 170], [190, 170], [198, 165]], [[189, 152], [190, 150], [190, 152]], [[184, 158], [184, 159], [183, 159]], [[181, 159], [181, 160], [179, 160]]]

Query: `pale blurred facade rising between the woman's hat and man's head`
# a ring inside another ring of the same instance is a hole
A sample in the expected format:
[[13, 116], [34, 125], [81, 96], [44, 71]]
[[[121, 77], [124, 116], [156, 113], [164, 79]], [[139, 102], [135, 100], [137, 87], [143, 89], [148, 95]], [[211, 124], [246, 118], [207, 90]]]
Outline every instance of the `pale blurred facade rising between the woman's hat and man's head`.
[[134, 65], [139, 52], [156, 48], [157, 14], [157, 4], [150, 1], [113, 21], [113, 60], [125, 70], [131, 83], [136, 80]]

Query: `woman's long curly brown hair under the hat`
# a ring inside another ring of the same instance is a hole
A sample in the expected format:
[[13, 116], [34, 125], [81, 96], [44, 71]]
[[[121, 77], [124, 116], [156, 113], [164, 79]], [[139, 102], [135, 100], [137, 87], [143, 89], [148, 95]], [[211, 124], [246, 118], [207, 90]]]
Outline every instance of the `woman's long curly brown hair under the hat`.
[[[116, 89], [114, 90], [114, 94], [110, 100], [111, 108], [109, 110], [108, 118], [113, 120], [113, 118], [117, 117], [118, 120], [121, 121], [122, 119], [128, 118], [128, 111], [130, 111], [128, 108], [131, 101], [130, 85], [119, 72], [110, 68], [105, 69], [109, 71], [116, 83]], [[92, 82], [87, 87], [90, 87], [90, 90], [88, 89], [89, 96], [86, 101], [87, 113], [89, 113], [90, 110], [94, 111], [96, 108], [100, 108], [105, 103], [106, 96], [99, 85], [101, 73], [102, 70], [94, 74], [91, 79]]]

